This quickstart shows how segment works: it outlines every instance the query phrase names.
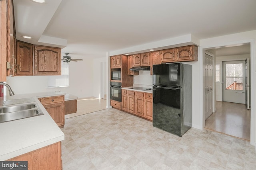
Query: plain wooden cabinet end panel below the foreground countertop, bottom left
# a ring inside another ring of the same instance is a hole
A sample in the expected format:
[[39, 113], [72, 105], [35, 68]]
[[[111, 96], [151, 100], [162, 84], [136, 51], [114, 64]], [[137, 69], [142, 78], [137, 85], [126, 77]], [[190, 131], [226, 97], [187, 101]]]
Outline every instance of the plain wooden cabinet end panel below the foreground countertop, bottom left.
[[61, 170], [61, 142], [16, 156], [9, 161], [28, 161], [28, 170]]

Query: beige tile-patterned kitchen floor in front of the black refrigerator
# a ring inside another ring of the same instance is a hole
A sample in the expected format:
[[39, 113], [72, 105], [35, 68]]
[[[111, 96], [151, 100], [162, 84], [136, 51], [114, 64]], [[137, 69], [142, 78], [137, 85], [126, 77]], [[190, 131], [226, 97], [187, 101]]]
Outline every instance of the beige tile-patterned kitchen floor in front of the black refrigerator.
[[255, 170], [248, 141], [208, 130], [178, 137], [117, 109], [65, 119], [63, 170]]

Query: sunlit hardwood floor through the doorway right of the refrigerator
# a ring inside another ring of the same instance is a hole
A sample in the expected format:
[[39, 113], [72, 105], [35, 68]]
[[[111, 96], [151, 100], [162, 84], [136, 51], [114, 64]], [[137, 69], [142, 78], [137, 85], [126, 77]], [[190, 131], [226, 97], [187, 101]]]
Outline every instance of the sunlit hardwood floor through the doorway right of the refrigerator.
[[250, 117], [244, 104], [216, 101], [216, 112], [206, 119], [205, 128], [250, 141]]

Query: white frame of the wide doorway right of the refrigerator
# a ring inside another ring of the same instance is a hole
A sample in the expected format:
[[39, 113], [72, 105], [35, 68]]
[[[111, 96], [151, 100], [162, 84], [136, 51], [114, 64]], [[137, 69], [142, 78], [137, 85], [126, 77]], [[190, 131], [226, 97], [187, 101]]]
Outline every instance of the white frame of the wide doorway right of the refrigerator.
[[[251, 77], [251, 122], [250, 122], [250, 144], [251, 145], [256, 145], [255, 143], [255, 124], [256, 124], [256, 119], [255, 119], [255, 110], [256, 110], [256, 72], [254, 70], [256, 70], [256, 63], [255, 63], [255, 39], [247, 39], [247, 40], [243, 40], [243, 41], [236, 41], [236, 42], [228, 42], [228, 43], [222, 43], [222, 42], [218, 42], [215, 43], [215, 45], [209, 45], [209, 46], [201, 46], [198, 49], [198, 55], [202, 56], [201, 60], [204, 59], [205, 57], [205, 50], [207, 49], [214, 49], [214, 48], [219, 48], [219, 47], [230, 47], [230, 46], [236, 46], [238, 44], [243, 44], [243, 43], [250, 43], [250, 77]], [[215, 64], [215, 63], [214, 63]], [[204, 62], [201, 61], [201, 68], [200, 68], [202, 74], [201, 74], [201, 82], [202, 82], [202, 96], [200, 96], [201, 101], [202, 101], [202, 107], [201, 107], [201, 121], [202, 121], [202, 129], [204, 129], [205, 127], [205, 115], [204, 115], [204, 109], [205, 109], [205, 103], [204, 103]], [[214, 73], [215, 76], [215, 73]], [[214, 82], [214, 88], [215, 88], [215, 82]], [[214, 89], [215, 92], [215, 89]], [[215, 99], [214, 99], [215, 100]], [[215, 103], [215, 102], [214, 102]], [[215, 106], [215, 104], [214, 104]]]

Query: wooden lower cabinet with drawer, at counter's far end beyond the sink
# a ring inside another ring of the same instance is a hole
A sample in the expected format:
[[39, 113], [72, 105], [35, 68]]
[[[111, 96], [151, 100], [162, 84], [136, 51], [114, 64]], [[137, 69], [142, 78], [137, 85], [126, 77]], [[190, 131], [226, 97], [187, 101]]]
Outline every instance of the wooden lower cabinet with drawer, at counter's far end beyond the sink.
[[64, 126], [64, 96], [38, 98], [59, 127]]

